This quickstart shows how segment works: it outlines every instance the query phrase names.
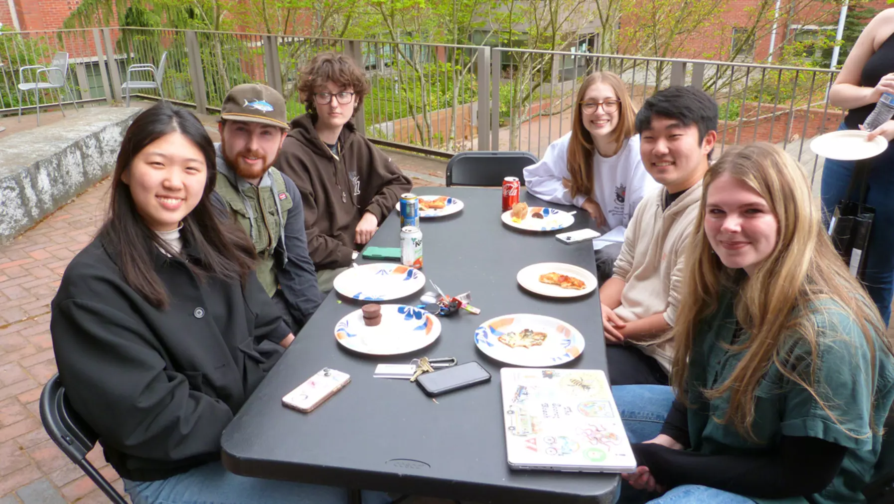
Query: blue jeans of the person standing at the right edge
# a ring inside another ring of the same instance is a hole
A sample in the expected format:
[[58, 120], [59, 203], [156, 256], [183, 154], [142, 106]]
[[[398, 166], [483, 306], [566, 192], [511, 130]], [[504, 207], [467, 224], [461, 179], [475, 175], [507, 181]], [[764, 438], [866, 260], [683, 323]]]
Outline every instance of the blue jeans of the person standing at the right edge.
[[[846, 130], [842, 123], [839, 130]], [[825, 223], [835, 212], [835, 206], [842, 199], [856, 200], [859, 187], [848, 195], [850, 176], [854, 172], [853, 161], [826, 159], [822, 165], [820, 198]], [[866, 205], [875, 207], [873, 228], [866, 248], [866, 273], [864, 285], [879, 307], [881, 319], [887, 324], [891, 316], [891, 295], [894, 293], [894, 147], [888, 147], [873, 159], [869, 173], [869, 190]]]

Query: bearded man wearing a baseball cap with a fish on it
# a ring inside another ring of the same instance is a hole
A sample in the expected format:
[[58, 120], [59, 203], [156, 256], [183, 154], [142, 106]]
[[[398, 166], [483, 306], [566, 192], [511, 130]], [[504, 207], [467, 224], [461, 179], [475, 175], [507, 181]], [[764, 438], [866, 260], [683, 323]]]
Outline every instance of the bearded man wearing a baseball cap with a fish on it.
[[288, 128], [283, 95], [263, 84], [240, 84], [223, 98], [217, 128], [213, 200], [249, 233], [257, 279], [297, 334], [322, 296], [308, 256], [301, 195], [273, 167]]

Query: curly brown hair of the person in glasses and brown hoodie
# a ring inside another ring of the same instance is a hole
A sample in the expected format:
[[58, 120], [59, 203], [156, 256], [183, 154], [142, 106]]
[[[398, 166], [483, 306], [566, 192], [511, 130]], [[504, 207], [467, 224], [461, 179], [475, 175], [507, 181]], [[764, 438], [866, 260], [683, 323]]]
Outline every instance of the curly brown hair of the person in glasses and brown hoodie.
[[301, 69], [298, 91], [304, 100], [304, 108], [316, 121], [316, 104], [314, 93], [316, 88], [325, 86], [326, 82], [334, 82], [336, 86], [351, 88], [357, 97], [358, 108], [363, 106], [363, 98], [369, 93], [369, 80], [363, 70], [347, 55], [341, 53], [320, 53], [310, 60], [308, 66]]

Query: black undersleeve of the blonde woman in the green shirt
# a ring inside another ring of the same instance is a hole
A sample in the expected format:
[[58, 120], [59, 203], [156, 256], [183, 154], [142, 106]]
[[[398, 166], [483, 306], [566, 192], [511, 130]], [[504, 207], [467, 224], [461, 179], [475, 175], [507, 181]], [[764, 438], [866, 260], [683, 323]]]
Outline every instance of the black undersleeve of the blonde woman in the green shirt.
[[749, 497], [786, 499], [822, 491], [838, 474], [848, 449], [805, 436], [782, 436], [777, 452], [704, 455], [655, 443], [632, 445], [637, 464], [668, 488], [700, 484]]

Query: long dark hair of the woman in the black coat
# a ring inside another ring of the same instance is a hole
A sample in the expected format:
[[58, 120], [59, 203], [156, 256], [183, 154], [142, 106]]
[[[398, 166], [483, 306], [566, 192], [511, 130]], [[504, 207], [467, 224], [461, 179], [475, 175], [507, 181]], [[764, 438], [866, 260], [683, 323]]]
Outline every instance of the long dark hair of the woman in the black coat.
[[211, 202], [217, 180], [216, 155], [205, 126], [192, 113], [158, 102], [140, 113], [124, 134], [112, 175], [109, 213], [97, 234], [116, 257], [124, 281], [156, 308], [167, 307], [168, 302], [168, 293], [155, 272], [156, 250], [162, 247], [172, 255], [173, 251], [139, 216], [122, 174], [144, 148], [174, 131], [198, 147], [207, 166], [205, 190], [198, 205], [183, 218], [181, 230], [184, 245], [194, 248], [198, 256], [197, 261], [188, 263], [190, 269], [200, 278], [209, 274], [244, 283], [257, 259], [245, 232], [233, 223], [220, 220]]

